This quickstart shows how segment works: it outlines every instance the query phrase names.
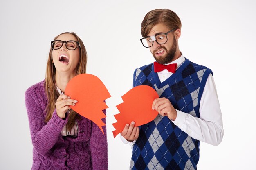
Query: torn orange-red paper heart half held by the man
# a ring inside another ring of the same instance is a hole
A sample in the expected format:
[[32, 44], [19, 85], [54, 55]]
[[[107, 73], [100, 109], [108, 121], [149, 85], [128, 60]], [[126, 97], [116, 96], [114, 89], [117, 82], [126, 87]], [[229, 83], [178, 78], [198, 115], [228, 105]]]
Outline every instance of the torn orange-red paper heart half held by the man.
[[152, 110], [152, 104], [158, 94], [152, 87], [148, 85], [140, 85], [132, 88], [124, 96], [122, 96], [123, 103], [117, 105], [119, 114], [114, 115], [117, 122], [113, 123], [114, 138], [121, 133], [126, 124], [135, 122], [135, 127], [146, 124], [155, 119], [158, 112]]

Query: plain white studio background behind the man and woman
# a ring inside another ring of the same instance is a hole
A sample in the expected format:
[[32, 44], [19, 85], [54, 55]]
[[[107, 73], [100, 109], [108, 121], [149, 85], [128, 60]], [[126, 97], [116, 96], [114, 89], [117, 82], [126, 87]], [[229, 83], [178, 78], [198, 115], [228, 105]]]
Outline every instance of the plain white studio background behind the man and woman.
[[255, 168], [256, 2], [254, 0], [1, 0], [0, 169], [30, 169], [32, 144], [24, 93], [45, 78], [50, 41], [65, 31], [81, 37], [87, 73], [98, 76], [107, 100], [110, 170], [129, 168], [131, 148], [113, 139], [114, 114], [132, 88], [135, 68], [154, 61], [141, 45], [141, 21], [156, 8], [182, 21], [180, 50], [213, 70], [225, 135], [219, 146], [201, 142], [199, 170]]

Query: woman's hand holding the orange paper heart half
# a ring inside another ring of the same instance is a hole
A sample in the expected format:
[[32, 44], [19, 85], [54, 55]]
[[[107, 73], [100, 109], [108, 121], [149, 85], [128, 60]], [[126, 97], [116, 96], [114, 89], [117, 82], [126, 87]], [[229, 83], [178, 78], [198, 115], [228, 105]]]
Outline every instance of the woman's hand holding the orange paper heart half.
[[70, 99], [70, 96], [60, 95], [55, 103], [56, 112], [58, 117], [65, 118], [65, 114], [68, 109], [70, 109], [70, 105], [76, 105], [77, 101], [74, 99]]

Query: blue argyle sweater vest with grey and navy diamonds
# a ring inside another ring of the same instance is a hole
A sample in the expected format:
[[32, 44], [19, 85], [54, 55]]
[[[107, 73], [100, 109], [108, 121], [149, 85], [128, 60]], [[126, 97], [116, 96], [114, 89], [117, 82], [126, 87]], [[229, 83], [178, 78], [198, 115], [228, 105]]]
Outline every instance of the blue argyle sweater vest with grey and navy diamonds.
[[[149, 85], [159, 97], [168, 98], [173, 107], [200, 117], [199, 105], [211, 70], [185, 59], [176, 72], [160, 82], [153, 63], [137, 68], [133, 86]], [[140, 126], [139, 137], [132, 146], [132, 170], [196, 170], [200, 141], [193, 139], [167, 116], [158, 116]]]

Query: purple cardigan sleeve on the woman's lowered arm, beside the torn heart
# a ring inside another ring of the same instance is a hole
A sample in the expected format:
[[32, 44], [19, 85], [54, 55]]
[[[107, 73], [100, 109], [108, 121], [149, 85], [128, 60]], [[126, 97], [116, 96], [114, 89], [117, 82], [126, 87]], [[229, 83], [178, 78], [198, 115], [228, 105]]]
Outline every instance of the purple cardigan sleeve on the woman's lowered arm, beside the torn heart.
[[[106, 110], [103, 110], [106, 114]], [[106, 118], [102, 119], [106, 123]], [[99, 127], [92, 122], [92, 134], [90, 139], [90, 147], [92, 153], [92, 169], [107, 170], [108, 169], [108, 143], [106, 126], [103, 126], [104, 134]]]

